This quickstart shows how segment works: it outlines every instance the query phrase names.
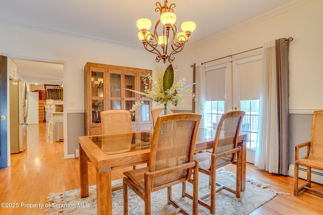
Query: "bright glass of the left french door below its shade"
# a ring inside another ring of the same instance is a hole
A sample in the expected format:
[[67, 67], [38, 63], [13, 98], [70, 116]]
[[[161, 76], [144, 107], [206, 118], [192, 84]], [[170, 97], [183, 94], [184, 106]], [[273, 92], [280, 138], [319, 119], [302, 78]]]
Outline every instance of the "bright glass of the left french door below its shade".
[[206, 101], [206, 127], [217, 129], [219, 120], [224, 114], [224, 101]]

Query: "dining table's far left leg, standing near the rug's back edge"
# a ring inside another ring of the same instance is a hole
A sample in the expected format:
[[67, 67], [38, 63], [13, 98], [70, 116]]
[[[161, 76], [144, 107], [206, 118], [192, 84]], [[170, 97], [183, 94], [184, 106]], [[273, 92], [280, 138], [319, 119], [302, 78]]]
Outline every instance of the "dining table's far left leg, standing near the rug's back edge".
[[79, 145], [79, 157], [80, 157], [80, 178], [81, 178], [81, 198], [89, 196], [89, 176], [87, 169], [87, 155]]

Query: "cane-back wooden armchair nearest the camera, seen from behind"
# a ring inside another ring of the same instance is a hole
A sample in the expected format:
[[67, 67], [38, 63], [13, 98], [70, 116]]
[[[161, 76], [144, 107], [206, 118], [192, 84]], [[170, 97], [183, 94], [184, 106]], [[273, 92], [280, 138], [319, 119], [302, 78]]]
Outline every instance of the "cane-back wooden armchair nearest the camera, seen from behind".
[[157, 118], [153, 131], [149, 164], [146, 168], [124, 172], [124, 214], [128, 214], [128, 187], [144, 200], [150, 214], [150, 193], [168, 188], [168, 204], [176, 209], [168, 214], [188, 214], [172, 199], [172, 186], [194, 177], [193, 214], [197, 214], [198, 162], [193, 161], [195, 139], [201, 115], [175, 113]]

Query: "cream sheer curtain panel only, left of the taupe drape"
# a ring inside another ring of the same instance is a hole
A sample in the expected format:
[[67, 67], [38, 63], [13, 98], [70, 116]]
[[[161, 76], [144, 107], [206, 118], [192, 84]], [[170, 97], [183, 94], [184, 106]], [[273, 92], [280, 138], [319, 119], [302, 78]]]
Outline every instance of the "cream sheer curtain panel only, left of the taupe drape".
[[259, 122], [254, 165], [269, 173], [279, 173], [277, 75], [275, 40], [263, 45]]

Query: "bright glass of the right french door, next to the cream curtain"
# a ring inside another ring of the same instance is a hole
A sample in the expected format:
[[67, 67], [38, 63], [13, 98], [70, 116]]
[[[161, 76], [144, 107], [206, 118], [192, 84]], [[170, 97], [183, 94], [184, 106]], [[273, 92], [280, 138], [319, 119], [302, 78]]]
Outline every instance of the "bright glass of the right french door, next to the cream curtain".
[[247, 149], [256, 150], [258, 117], [259, 117], [259, 100], [240, 101], [240, 110], [245, 111], [240, 131], [247, 134]]

